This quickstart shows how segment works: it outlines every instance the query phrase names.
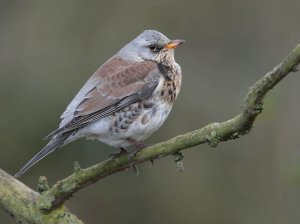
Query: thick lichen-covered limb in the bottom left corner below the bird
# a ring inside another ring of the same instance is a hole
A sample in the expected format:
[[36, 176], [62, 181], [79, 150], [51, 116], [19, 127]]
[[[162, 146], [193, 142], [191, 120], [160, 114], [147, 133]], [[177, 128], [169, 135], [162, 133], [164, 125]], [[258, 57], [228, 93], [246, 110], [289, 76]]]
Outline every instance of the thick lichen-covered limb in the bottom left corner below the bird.
[[0, 169], [0, 206], [19, 223], [83, 223], [64, 206], [55, 208], [50, 214], [44, 214], [36, 206], [39, 196], [39, 193]]

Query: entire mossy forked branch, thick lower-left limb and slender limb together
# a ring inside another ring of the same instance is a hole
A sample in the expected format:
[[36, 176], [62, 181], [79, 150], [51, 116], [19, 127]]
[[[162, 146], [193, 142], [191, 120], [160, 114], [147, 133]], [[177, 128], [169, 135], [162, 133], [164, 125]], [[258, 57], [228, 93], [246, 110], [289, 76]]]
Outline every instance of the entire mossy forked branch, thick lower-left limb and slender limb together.
[[108, 175], [144, 161], [152, 161], [203, 143], [216, 147], [218, 143], [247, 134], [257, 115], [262, 112], [263, 99], [280, 80], [297, 71], [300, 63], [300, 44], [274, 69], [258, 80], [249, 90], [242, 111], [222, 123], [211, 123], [201, 129], [179, 135], [165, 142], [140, 150], [136, 155], [109, 159], [86, 169], [74, 163], [74, 173], [58, 181], [50, 189], [40, 182], [41, 194], [0, 170], [0, 205], [24, 223], [82, 223], [63, 203], [72, 194]]

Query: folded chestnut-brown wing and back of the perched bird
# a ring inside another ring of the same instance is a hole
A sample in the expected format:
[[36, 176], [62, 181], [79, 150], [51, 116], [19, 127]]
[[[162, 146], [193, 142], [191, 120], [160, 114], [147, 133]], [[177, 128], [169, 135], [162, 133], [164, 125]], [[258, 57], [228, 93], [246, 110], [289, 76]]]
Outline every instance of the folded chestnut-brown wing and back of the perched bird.
[[159, 70], [157, 64], [151, 61], [125, 63], [112, 59], [91, 78], [99, 82], [78, 104], [73, 119], [52, 132], [47, 139], [83, 127], [150, 96], [158, 84]]

